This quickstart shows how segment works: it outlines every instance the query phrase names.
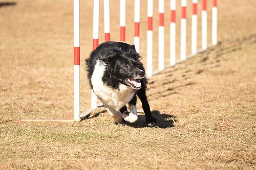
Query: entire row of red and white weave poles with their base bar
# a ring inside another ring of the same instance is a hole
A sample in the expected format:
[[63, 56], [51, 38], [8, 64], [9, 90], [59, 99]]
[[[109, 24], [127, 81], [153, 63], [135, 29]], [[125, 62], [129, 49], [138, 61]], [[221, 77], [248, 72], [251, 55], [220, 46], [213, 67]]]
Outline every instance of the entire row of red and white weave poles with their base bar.
[[[181, 35], [180, 35], [180, 60], [176, 61], [176, 0], [170, 0], [170, 64], [164, 65], [164, 0], [159, 0], [159, 67], [153, 72], [153, 0], [147, 0], [147, 65], [146, 75], [148, 78], [158, 74], [165, 68], [181, 63], [185, 59], [194, 57], [198, 53], [207, 50], [207, 0], [202, 0], [202, 49], [197, 50], [197, 4], [198, 0], [193, 2], [193, 13], [191, 22], [191, 55], [186, 55], [186, 5], [187, 0], [181, 0]], [[135, 2], [134, 17], [134, 44], [139, 53], [140, 43], [140, 0]], [[216, 45], [217, 40], [217, 19], [218, 8], [217, 0], [212, 0], [212, 45]], [[96, 108], [102, 107], [102, 103], [97, 104], [97, 96], [91, 91], [91, 108], [80, 114], [80, 2], [74, 0], [74, 121], [79, 121], [87, 117]], [[110, 3], [104, 0], [104, 35], [105, 41], [110, 41]], [[120, 0], [120, 41], [125, 42], [125, 0]], [[99, 44], [99, 0], [94, 0], [93, 7], [93, 50]], [[138, 111], [143, 112], [143, 111]], [[70, 120], [42, 120], [42, 119], [23, 119], [22, 121], [34, 122], [70, 122]]]

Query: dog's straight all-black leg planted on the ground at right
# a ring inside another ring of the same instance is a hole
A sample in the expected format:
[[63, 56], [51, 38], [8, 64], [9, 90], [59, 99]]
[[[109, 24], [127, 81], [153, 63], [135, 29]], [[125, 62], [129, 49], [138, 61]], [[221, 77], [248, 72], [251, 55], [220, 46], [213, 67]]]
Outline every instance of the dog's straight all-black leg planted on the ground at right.
[[140, 101], [142, 103], [142, 108], [146, 116], [147, 126], [156, 126], [157, 120], [151, 114], [150, 105], [148, 104], [147, 98], [146, 98], [146, 89], [145, 88], [139, 89], [139, 91], [137, 92], [137, 95], [139, 96]]

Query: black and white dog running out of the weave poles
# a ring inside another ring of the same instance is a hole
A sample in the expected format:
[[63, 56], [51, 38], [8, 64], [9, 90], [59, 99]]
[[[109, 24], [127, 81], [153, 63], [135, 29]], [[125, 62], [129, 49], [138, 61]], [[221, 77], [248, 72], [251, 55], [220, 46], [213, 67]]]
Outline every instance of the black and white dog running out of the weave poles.
[[[104, 42], [86, 59], [91, 88], [119, 124], [138, 119], [136, 94], [148, 126], [156, 125], [146, 98], [145, 69], [134, 45], [123, 42]], [[129, 104], [130, 113], [126, 104]], [[125, 121], [124, 121], [125, 120]]]

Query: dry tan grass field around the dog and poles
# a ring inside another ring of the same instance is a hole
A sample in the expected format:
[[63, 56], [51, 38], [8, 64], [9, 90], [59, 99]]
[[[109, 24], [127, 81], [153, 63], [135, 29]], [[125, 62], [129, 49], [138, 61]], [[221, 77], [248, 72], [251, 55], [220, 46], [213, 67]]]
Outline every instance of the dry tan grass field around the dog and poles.
[[[111, 38], [118, 41], [119, 1], [110, 2]], [[92, 50], [92, 1], [80, 3], [83, 111], [90, 106], [83, 61]], [[132, 43], [133, 1], [126, 3], [126, 39]], [[146, 64], [146, 1], [141, 5]], [[189, 54], [190, 1], [188, 6]], [[157, 7], [155, 1], [155, 16]], [[169, 1], [165, 7], [168, 64]], [[147, 95], [158, 127], [148, 128], [143, 114], [134, 124], [115, 125], [104, 108], [78, 123], [20, 122], [73, 116], [73, 2], [0, 6], [0, 169], [256, 169], [255, 11], [253, 0], [219, 1], [219, 44], [150, 79]], [[178, 35], [179, 14], [180, 8]], [[157, 17], [154, 30], [156, 69]], [[200, 32], [199, 22], [199, 48]], [[208, 35], [210, 43], [210, 29]], [[177, 59], [178, 46], [179, 36]]]

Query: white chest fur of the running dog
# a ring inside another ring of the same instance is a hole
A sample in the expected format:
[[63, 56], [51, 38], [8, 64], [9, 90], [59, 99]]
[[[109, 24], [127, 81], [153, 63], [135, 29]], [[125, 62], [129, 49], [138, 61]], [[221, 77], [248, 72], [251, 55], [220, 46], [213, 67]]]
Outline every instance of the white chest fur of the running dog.
[[104, 62], [97, 61], [91, 80], [93, 91], [104, 105], [119, 110], [132, 100], [134, 90], [132, 87], [125, 86], [124, 84], [120, 84], [118, 89], [104, 85], [102, 82], [104, 71]]

